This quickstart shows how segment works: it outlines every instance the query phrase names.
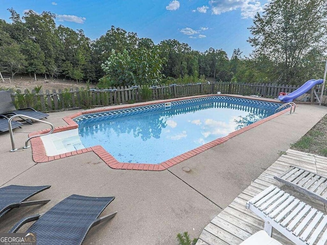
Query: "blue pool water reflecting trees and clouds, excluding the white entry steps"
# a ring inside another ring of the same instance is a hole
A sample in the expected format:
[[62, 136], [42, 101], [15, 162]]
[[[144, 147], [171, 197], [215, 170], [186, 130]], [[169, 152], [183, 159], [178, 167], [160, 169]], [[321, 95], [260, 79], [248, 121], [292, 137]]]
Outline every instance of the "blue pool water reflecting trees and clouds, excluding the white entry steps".
[[233, 97], [201, 99], [83, 115], [74, 120], [87, 148], [116, 160], [158, 164], [272, 115], [280, 104]]

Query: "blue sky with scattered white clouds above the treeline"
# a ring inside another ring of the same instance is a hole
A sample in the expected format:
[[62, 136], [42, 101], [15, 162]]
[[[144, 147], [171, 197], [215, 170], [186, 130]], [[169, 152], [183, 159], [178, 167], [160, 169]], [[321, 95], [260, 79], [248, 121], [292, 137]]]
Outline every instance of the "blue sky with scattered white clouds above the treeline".
[[151, 38], [156, 44], [165, 39], [188, 43], [193, 50], [222, 48], [230, 57], [234, 48], [243, 55], [251, 53], [247, 43], [253, 16], [269, 0], [1, 0], [0, 18], [10, 21], [8, 8], [21, 16], [32, 9], [50, 11], [56, 23], [82, 29], [95, 40], [111, 26], [138, 37]]

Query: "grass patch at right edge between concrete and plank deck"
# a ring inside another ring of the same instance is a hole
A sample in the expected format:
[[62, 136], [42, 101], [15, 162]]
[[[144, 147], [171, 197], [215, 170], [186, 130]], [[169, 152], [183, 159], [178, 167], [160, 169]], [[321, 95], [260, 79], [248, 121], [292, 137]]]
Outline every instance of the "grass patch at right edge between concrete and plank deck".
[[327, 157], [327, 115], [306, 135], [292, 144], [291, 149]]

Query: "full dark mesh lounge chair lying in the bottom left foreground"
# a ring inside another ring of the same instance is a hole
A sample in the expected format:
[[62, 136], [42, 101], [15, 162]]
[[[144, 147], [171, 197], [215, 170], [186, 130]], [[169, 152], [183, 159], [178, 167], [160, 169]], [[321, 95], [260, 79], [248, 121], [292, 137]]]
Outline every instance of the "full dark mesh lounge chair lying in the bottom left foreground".
[[37, 220], [26, 232], [37, 234], [37, 244], [81, 244], [94, 226], [111, 219], [117, 212], [98, 218], [114, 197], [93, 198], [71, 195], [42, 215], [34, 215], [18, 222], [9, 232]]

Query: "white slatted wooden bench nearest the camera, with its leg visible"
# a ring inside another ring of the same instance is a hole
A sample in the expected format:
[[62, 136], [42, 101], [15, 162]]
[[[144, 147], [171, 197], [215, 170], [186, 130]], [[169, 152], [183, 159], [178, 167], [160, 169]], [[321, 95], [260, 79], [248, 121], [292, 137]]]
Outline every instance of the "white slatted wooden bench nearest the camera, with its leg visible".
[[261, 217], [269, 236], [272, 229], [297, 245], [324, 245], [327, 241], [327, 215], [271, 185], [246, 203]]

